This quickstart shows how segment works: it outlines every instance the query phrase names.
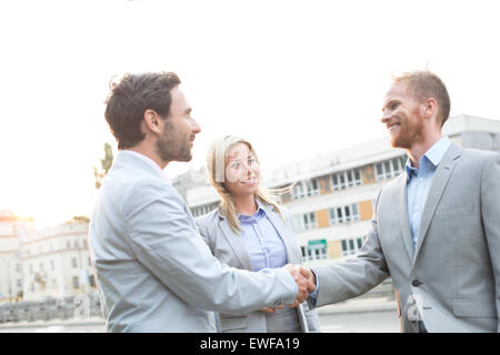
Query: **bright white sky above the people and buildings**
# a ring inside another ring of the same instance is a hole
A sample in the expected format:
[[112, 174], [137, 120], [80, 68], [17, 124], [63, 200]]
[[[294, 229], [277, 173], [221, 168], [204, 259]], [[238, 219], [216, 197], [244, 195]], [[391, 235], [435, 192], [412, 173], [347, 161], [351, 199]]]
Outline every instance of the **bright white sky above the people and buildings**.
[[263, 169], [386, 135], [390, 75], [434, 71], [451, 114], [500, 120], [498, 1], [2, 1], [0, 209], [90, 215], [116, 142], [111, 77], [174, 71], [201, 125], [191, 163], [238, 134]]

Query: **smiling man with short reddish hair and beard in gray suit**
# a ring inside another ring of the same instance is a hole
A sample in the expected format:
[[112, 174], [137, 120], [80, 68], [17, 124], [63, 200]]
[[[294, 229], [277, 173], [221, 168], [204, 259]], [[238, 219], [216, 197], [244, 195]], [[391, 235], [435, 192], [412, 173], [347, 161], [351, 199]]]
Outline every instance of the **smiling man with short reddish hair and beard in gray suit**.
[[396, 78], [382, 112], [407, 173], [381, 189], [360, 254], [314, 268], [316, 306], [391, 276], [404, 332], [499, 332], [500, 154], [442, 136], [450, 99], [429, 71]]

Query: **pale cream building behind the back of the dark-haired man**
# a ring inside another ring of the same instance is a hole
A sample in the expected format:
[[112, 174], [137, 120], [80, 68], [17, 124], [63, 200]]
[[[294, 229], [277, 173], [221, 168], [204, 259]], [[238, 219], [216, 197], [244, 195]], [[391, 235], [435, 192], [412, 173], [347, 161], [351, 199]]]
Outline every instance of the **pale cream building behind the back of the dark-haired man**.
[[88, 235], [88, 222], [68, 222], [20, 235], [26, 301], [97, 291]]

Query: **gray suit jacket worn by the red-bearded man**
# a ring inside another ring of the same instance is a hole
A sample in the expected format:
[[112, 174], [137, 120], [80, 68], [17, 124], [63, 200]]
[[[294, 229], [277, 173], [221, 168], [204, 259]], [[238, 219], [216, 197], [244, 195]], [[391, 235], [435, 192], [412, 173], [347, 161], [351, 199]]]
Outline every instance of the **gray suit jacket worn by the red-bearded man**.
[[439, 164], [413, 251], [407, 175], [379, 193], [360, 254], [316, 268], [317, 306], [358, 296], [389, 275], [404, 332], [498, 332], [500, 154], [452, 143]]

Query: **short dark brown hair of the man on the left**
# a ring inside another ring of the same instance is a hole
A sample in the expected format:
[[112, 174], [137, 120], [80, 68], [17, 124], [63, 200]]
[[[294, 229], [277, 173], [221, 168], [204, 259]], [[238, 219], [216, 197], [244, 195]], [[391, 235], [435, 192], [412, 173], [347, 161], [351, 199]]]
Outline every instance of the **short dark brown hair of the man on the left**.
[[118, 149], [132, 148], [146, 138], [141, 131], [146, 110], [153, 110], [163, 119], [169, 116], [170, 90], [179, 84], [179, 77], [172, 72], [127, 73], [120, 82], [110, 82], [104, 118]]

